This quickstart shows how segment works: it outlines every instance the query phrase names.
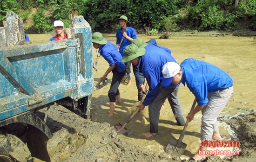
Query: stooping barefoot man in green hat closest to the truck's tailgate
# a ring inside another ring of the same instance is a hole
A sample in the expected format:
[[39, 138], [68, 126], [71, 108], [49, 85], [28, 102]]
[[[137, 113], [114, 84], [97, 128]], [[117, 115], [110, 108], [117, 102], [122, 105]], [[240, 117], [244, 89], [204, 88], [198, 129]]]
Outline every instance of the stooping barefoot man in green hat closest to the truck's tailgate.
[[101, 76], [102, 80], [105, 80], [108, 74], [112, 71], [113, 77], [112, 82], [108, 91], [109, 98], [109, 116], [112, 117], [115, 111], [115, 101], [121, 103], [121, 97], [119, 92], [119, 85], [122, 78], [125, 76], [125, 64], [120, 60], [122, 58], [121, 54], [117, 51], [117, 47], [104, 39], [103, 35], [100, 32], [94, 32], [92, 35], [93, 46], [96, 49], [99, 49], [100, 55], [108, 61], [109, 68]]

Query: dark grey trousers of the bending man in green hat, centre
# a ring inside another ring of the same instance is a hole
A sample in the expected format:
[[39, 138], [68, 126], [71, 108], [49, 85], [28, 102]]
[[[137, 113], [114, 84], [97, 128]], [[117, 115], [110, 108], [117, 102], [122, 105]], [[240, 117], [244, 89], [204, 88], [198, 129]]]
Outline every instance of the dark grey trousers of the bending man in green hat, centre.
[[167, 89], [159, 85], [159, 91], [153, 101], [148, 104], [148, 115], [150, 123], [150, 133], [158, 133], [158, 123], [160, 117], [160, 110], [162, 103], [168, 98], [175, 119], [178, 124], [184, 125], [185, 121], [182, 114], [181, 104], [178, 99], [179, 86], [175, 89]]

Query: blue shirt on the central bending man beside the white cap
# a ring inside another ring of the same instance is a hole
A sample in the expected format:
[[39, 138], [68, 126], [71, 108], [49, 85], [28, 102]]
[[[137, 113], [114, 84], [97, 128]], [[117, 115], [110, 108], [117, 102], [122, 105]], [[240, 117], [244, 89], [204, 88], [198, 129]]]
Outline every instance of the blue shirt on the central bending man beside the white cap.
[[176, 62], [168, 52], [149, 44], [145, 47], [146, 52], [141, 56], [138, 66], [147, 79], [149, 90], [142, 104], [148, 105], [156, 96], [159, 90], [159, 84], [163, 78], [162, 66], [167, 62]]

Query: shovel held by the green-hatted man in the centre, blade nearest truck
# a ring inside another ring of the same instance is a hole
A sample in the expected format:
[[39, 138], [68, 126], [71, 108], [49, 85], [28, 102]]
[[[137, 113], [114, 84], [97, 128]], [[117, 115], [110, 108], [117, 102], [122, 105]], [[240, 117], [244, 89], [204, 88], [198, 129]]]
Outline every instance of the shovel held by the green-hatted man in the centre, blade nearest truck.
[[[147, 91], [148, 89], [148, 83], [146, 83], [146, 86], [145, 86], [145, 91]], [[146, 96], [146, 93], [143, 93], [143, 96], [141, 98], [141, 102], [143, 102], [144, 98]], [[136, 106], [137, 103], [134, 105]], [[133, 107], [134, 107], [133, 106]], [[132, 113], [132, 115], [126, 120], [126, 122], [122, 125], [121, 123], [117, 123], [115, 124], [112, 129], [116, 130], [116, 133], [117, 134], [123, 134], [123, 133], [126, 133], [128, 132], [128, 129], [125, 128], [125, 126], [130, 122], [130, 120], [135, 116], [135, 114], [140, 110], [140, 108], [136, 108], [136, 110]]]

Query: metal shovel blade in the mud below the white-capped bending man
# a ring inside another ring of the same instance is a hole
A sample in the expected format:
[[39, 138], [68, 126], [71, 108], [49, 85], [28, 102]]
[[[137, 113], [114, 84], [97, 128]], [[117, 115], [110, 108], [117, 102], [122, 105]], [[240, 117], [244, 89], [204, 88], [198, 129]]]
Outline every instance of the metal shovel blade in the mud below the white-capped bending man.
[[174, 156], [182, 156], [186, 147], [187, 147], [186, 143], [182, 143], [181, 141], [175, 138], [171, 138], [170, 142], [165, 148], [165, 152]]

